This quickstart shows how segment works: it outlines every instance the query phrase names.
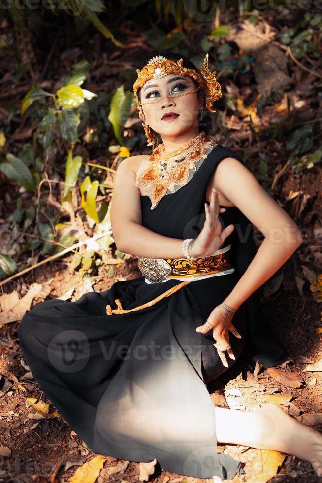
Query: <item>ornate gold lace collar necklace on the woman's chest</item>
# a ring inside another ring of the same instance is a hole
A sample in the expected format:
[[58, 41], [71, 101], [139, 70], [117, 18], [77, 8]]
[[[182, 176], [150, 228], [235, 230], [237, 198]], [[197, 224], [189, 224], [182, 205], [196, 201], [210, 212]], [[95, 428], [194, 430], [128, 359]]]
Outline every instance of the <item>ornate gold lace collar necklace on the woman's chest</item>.
[[[206, 158], [206, 149], [214, 147], [214, 141], [201, 131], [179, 149], [164, 153], [164, 145], [159, 144], [150, 158], [143, 161], [137, 171], [135, 186], [147, 191], [154, 209], [161, 198], [175, 192], [176, 185], [188, 182], [190, 169], [196, 171], [195, 163]], [[184, 158], [184, 159], [183, 159]]]

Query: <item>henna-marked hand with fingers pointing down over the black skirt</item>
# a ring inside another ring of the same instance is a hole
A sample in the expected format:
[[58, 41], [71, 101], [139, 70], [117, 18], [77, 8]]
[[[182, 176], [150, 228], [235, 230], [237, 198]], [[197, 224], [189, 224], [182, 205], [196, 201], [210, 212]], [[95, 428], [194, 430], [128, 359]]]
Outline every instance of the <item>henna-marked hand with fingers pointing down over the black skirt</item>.
[[200, 325], [195, 329], [196, 332], [201, 332], [202, 334], [206, 334], [212, 329], [212, 335], [216, 341], [214, 346], [216, 347], [218, 355], [225, 367], [228, 367], [225, 356], [226, 351], [228, 352], [230, 359], [236, 359], [229, 343], [228, 331], [230, 330], [230, 332], [232, 332], [238, 339], [242, 338], [231, 322], [236, 310], [237, 309], [229, 307], [223, 302], [221, 305], [215, 307], [203, 325]]

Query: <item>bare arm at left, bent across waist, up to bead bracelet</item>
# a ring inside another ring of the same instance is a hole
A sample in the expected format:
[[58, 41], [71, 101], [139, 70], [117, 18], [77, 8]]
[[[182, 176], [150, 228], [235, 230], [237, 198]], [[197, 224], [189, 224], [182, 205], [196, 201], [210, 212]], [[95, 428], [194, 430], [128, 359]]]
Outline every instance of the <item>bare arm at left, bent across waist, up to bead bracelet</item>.
[[111, 225], [116, 246], [134, 256], [180, 258], [183, 239], [164, 237], [142, 226], [140, 190], [134, 184], [133, 158], [120, 163], [114, 179]]

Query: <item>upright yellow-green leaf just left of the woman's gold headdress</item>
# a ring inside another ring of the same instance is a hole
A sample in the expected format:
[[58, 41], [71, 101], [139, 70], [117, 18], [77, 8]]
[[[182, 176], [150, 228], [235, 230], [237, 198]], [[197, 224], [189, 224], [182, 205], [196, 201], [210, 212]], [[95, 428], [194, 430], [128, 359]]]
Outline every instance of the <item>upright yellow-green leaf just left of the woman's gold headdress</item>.
[[124, 92], [123, 84], [116, 90], [111, 101], [111, 110], [108, 120], [113, 126], [114, 134], [118, 142], [123, 145], [121, 131], [128, 120], [133, 94], [131, 91]]

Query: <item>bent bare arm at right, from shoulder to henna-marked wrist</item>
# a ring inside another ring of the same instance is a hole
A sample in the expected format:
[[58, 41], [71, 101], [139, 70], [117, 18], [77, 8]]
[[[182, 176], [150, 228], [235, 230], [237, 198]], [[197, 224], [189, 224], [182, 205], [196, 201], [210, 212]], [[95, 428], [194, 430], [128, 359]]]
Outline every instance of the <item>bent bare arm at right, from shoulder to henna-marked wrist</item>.
[[303, 239], [296, 223], [240, 161], [235, 158], [223, 161], [216, 169], [216, 187], [265, 237], [247, 270], [224, 301], [237, 309], [277, 272]]

